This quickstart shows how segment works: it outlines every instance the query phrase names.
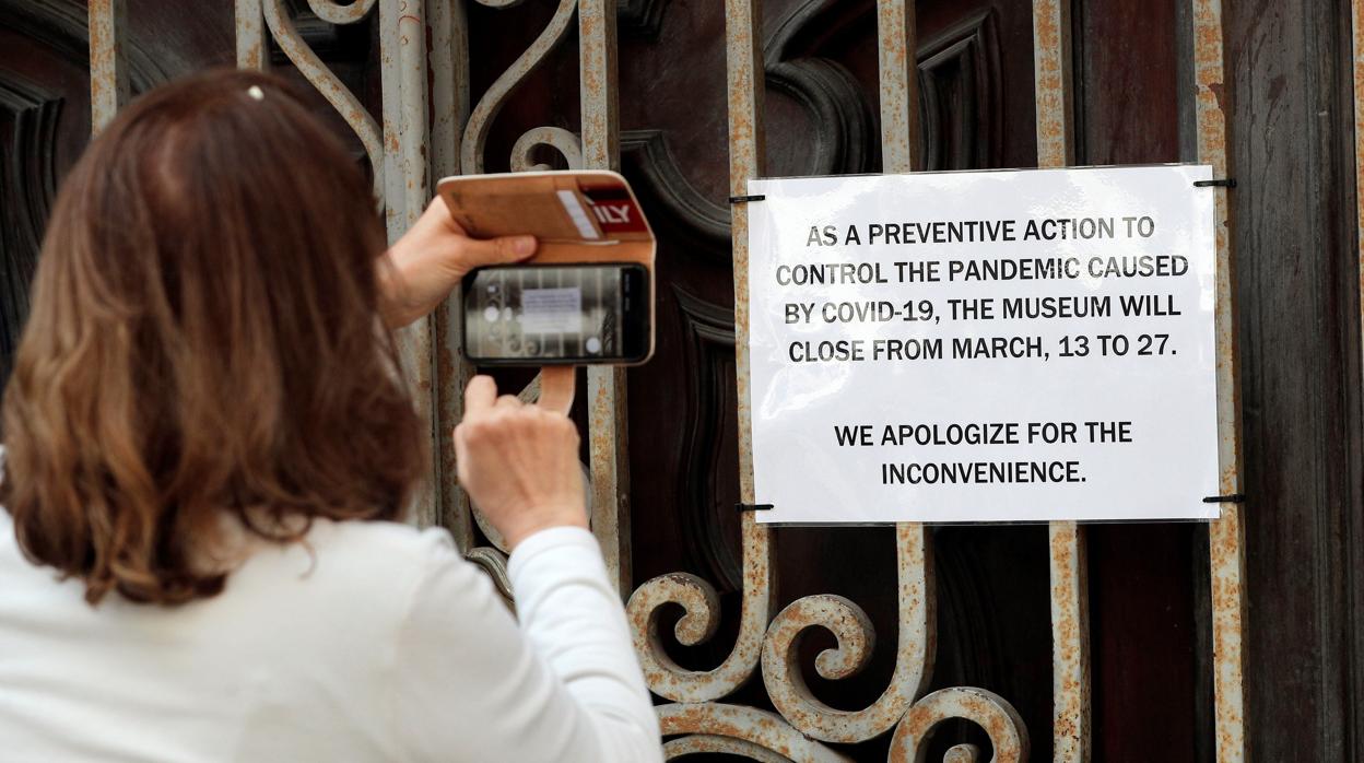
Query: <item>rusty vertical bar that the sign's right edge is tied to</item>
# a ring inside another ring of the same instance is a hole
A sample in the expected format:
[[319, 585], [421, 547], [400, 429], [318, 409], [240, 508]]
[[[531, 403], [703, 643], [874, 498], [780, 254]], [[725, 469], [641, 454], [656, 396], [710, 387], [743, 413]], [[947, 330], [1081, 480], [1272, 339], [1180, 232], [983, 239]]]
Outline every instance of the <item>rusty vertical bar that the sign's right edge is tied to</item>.
[[[1357, 4], [1359, 0], [1356, 0]], [[1357, 81], [1356, 81], [1357, 82]], [[1357, 86], [1357, 85], [1356, 85]], [[1198, 112], [1198, 161], [1228, 176], [1221, 0], [1194, 0], [1194, 102]], [[1226, 188], [1215, 194], [1217, 222], [1217, 430], [1219, 490], [1241, 491], [1241, 403], [1237, 374], [1236, 311], [1232, 295], [1230, 227]], [[1213, 579], [1213, 693], [1217, 759], [1245, 760], [1245, 531], [1236, 504], [1209, 526]]]

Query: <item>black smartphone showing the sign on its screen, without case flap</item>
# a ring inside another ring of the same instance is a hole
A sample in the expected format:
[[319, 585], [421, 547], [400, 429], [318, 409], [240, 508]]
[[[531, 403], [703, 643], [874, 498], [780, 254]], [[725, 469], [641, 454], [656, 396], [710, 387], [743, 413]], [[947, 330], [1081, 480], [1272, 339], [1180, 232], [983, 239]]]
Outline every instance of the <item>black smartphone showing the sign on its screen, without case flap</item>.
[[464, 354], [481, 366], [633, 364], [653, 352], [637, 262], [492, 265], [464, 277]]

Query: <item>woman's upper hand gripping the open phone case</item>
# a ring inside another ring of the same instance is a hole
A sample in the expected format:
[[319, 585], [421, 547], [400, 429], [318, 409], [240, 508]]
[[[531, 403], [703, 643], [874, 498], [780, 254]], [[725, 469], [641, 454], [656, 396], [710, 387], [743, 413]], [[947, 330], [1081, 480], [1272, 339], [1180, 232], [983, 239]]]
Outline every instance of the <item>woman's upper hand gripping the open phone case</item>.
[[[535, 254], [535, 236], [471, 239], [450, 217], [445, 199], [427, 205], [412, 229], [387, 251], [379, 268], [379, 308], [390, 329], [435, 310], [480, 265], [520, 262]], [[389, 266], [391, 263], [391, 266]]]

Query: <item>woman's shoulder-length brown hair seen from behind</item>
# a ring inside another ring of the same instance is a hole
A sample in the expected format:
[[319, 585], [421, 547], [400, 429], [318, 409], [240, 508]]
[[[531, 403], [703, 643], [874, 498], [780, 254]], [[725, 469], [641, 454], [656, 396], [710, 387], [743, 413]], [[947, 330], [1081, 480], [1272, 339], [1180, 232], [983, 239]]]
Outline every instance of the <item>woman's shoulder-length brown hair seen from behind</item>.
[[396, 519], [424, 463], [379, 321], [356, 161], [284, 82], [160, 87], [57, 197], [5, 390], [0, 504], [25, 554], [117, 591], [217, 594], [224, 515], [273, 541]]

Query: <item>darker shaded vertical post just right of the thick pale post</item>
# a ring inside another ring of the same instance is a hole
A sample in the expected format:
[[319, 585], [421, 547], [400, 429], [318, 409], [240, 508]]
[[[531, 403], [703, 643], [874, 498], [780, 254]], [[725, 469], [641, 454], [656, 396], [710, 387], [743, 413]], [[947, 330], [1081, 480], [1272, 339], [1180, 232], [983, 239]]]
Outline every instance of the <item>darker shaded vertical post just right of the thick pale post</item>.
[[[460, 136], [469, 120], [469, 31], [464, 3], [427, 0], [427, 29], [431, 48], [431, 177], [458, 175]], [[469, 497], [460, 490], [450, 433], [464, 416], [464, 386], [473, 367], [460, 347], [460, 289], [454, 289], [435, 311], [435, 450], [439, 474], [439, 523], [454, 535], [461, 551], [473, 547], [473, 517]]]

